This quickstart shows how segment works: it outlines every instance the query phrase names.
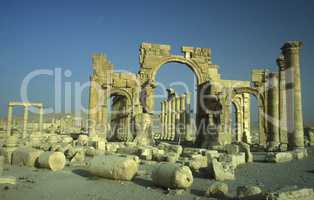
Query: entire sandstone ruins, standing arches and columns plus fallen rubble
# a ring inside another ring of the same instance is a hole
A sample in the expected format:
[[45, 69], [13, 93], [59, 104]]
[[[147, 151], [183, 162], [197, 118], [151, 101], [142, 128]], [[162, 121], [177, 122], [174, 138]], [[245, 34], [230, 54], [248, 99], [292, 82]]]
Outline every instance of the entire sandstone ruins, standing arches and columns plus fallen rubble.
[[[253, 69], [251, 81], [222, 79], [209, 48], [184, 46], [183, 55], [173, 55], [169, 45], [142, 43], [137, 74], [116, 72], [104, 54], [95, 54], [87, 132], [73, 137], [56, 129], [45, 131], [41, 103], [10, 102], [0, 149], [0, 172], [4, 163], [52, 171], [69, 165], [81, 166], [91, 175], [131, 181], [141, 174], [139, 165], [146, 164], [155, 166], [151, 181], [156, 186], [180, 191], [188, 190], [193, 175], [205, 170], [216, 182], [204, 195], [226, 197], [229, 189], [223, 181], [234, 180], [238, 166], [307, 156], [299, 61], [302, 46], [300, 41], [285, 43], [276, 60], [278, 71]], [[189, 93], [177, 95], [168, 89], [161, 112], [154, 112], [156, 73], [170, 62], [185, 64], [197, 78], [194, 128]], [[258, 144], [252, 143], [250, 95], [258, 102]], [[235, 139], [232, 105], [236, 108]], [[14, 106], [25, 107], [21, 134], [12, 131]], [[29, 107], [39, 108], [38, 130], [31, 134], [27, 129]], [[153, 129], [156, 117], [160, 119], [158, 132]], [[308, 136], [311, 145], [313, 133], [310, 131]], [[15, 184], [16, 179], [0, 177], [1, 183]], [[257, 186], [243, 186], [237, 189], [237, 197], [313, 199], [314, 192], [312, 188], [262, 192]]]

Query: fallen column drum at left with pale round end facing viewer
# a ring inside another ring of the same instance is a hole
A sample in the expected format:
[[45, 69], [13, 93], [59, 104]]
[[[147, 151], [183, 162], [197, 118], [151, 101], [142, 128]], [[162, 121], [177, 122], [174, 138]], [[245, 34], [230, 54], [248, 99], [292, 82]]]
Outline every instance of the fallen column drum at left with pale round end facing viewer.
[[65, 166], [66, 159], [61, 152], [44, 152], [40, 154], [38, 158], [38, 166], [41, 168], [47, 168], [51, 171], [62, 170]]

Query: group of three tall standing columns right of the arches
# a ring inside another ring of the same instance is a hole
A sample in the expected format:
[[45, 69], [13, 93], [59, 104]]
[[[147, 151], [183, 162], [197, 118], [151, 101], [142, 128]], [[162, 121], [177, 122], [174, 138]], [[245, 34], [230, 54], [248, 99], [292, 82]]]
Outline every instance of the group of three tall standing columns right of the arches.
[[273, 145], [288, 144], [290, 149], [304, 147], [300, 74], [302, 42], [291, 41], [281, 48], [277, 59], [279, 73], [269, 74], [268, 130]]

